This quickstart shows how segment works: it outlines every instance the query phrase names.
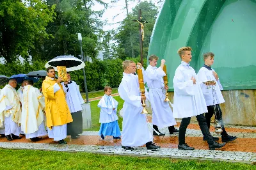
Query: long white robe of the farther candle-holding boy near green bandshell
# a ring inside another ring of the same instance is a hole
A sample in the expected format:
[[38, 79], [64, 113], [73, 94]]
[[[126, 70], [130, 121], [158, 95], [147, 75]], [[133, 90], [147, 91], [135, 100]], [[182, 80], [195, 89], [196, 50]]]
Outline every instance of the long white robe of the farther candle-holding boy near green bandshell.
[[166, 75], [161, 67], [148, 65], [146, 69], [148, 97], [152, 108], [152, 124], [159, 128], [176, 125], [169, 102], [164, 102], [166, 90], [163, 76]]

